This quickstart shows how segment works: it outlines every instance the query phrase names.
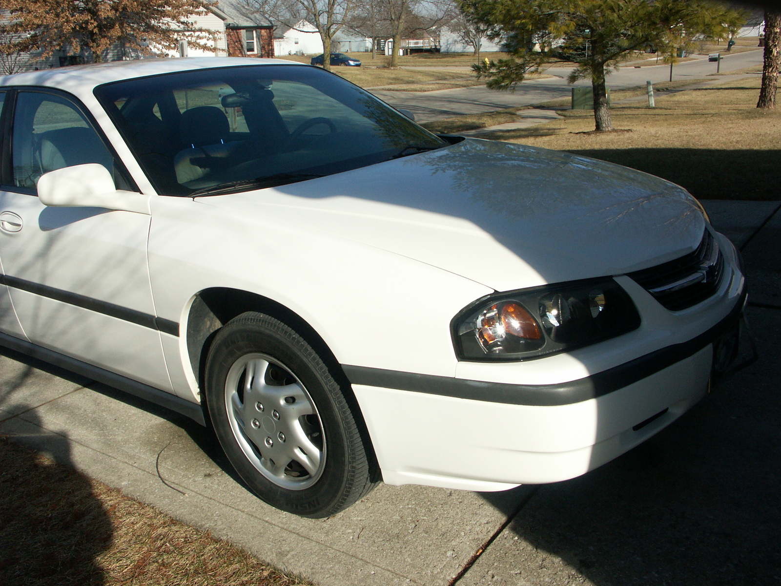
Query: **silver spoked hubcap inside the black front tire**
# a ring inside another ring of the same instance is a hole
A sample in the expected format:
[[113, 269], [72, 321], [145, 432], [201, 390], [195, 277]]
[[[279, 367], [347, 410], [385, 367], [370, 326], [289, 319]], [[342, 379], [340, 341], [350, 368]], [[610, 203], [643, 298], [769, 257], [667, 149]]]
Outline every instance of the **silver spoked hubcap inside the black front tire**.
[[242, 356], [228, 370], [225, 407], [241, 451], [264, 477], [294, 491], [316, 483], [326, 460], [323, 426], [290, 370], [269, 356]]

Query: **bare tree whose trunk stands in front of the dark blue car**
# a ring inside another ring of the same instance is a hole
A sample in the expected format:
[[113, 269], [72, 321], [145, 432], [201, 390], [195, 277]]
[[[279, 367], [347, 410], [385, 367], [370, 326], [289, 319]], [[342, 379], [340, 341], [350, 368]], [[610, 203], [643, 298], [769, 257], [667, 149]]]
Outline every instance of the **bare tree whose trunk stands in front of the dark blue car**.
[[251, 9], [269, 16], [293, 30], [301, 29], [302, 20], [317, 29], [323, 41], [323, 67], [331, 69], [331, 45], [334, 35], [347, 23], [354, 0], [245, 0]]

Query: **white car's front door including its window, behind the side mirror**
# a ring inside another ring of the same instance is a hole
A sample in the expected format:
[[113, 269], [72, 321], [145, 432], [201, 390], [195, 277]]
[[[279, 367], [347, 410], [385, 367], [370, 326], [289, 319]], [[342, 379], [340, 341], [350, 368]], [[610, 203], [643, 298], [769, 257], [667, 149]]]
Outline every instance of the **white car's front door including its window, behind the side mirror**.
[[[12, 91], [4, 116], [0, 188], [3, 280], [24, 334], [34, 344], [166, 391], [149, 280], [151, 217], [90, 207], [46, 206], [41, 174], [100, 163], [117, 188], [137, 191], [116, 155], [70, 95]], [[14, 223], [2, 222], [10, 217]]]

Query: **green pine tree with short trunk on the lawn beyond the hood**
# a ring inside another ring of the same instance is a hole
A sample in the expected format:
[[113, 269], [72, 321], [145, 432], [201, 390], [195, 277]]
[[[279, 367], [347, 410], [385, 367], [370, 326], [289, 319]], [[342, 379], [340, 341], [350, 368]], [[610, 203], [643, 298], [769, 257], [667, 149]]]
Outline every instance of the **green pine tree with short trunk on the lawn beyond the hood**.
[[[460, 0], [488, 36], [504, 39], [512, 59], [473, 66], [487, 86], [509, 89], [557, 56], [576, 63], [569, 82], [590, 79], [596, 130], [613, 130], [606, 77], [628, 52], [655, 48], [675, 55], [697, 35], [726, 38], [740, 11], [707, 0]], [[674, 56], [673, 56], [673, 59]]]

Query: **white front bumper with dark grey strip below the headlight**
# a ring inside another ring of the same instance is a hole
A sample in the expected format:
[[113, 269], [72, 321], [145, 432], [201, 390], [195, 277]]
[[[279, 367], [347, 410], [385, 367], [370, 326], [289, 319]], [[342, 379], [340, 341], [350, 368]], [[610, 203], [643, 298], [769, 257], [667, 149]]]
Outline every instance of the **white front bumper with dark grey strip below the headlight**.
[[497, 491], [563, 481], [620, 456], [699, 401], [714, 342], [737, 327], [745, 299], [689, 341], [568, 383], [344, 370], [387, 484]]

